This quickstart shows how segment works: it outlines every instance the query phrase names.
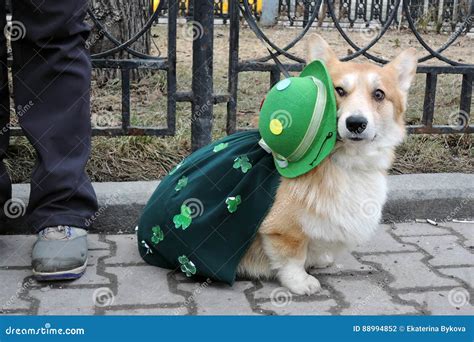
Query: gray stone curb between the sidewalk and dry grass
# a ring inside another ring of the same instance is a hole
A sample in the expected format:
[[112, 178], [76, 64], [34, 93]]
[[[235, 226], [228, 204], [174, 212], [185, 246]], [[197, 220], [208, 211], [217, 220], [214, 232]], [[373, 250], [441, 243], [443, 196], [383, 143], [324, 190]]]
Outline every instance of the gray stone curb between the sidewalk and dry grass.
[[[93, 232], [130, 233], [159, 181], [94, 183], [99, 210]], [[29, 185], [13, 186], [13, 197], [28, 201]], [[441, 173], [389, 176], [385, 222], [474, 217], [474, 174]], [[24, 217], [1, 227], [0, 234], [31, 233]]]

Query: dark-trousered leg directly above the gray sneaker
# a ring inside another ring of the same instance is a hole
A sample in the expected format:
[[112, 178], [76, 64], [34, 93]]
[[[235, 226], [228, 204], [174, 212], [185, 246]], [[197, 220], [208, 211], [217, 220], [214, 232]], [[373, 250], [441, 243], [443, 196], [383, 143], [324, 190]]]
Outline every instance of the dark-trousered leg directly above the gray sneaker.
[[84, 171], [91, 139], [86, 9], [87, 0], [13, 1], [13, 22], [26, 28], [12, 42], [13, 82], [20, 125], [38, 154], [28, 208], [36, 231], [86, 228], [97, 210]]

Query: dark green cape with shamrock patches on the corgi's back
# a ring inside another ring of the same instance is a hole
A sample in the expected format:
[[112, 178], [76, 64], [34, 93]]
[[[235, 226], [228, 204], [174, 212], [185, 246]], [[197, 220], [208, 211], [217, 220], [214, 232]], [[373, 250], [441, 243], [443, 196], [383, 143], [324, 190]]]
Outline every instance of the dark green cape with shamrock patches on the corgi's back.
[[233, 284], [280, 182], [259, 140], [258, 131], [230, 135], [194, 152], [163, 179], [138, 225], [147, 263]]

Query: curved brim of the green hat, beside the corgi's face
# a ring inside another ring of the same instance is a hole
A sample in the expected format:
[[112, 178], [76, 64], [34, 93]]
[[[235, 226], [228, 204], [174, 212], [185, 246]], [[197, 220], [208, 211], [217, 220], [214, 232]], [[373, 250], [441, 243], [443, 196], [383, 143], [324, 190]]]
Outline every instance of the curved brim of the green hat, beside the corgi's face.
[[286, 178], [295, 178], [314, 169], [331, 153], [336, 144], [337, 109], [331, 77], [324, 63], [320, 60], [311, 62], [303, 69], [300, 77], [307, 76], [313, 76], [325, 85], [327, 92], [326, 106], [318, 133], [308, 152], [298, 161], [288, 162], [288, 166], [286, 167], [280, 167], [280, 165], [275, 162], [278, 172]]

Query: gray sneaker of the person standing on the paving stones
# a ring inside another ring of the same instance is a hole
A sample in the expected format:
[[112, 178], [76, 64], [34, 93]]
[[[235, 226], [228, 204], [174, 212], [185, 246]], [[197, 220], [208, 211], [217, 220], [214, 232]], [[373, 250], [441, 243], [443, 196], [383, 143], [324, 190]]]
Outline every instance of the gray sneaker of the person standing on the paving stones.
[[77, 279], [87, 265], [87, 231], [69, 226], [43, 229], [33, 247], [33, 275], [37, 280]]

